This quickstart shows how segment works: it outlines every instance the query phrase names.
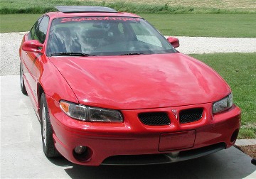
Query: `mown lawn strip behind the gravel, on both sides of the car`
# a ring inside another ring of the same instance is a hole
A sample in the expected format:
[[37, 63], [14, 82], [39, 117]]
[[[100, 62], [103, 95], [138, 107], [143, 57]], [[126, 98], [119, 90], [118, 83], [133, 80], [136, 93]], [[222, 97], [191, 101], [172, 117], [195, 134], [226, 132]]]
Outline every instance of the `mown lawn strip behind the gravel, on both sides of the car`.
[[[256, 38], [255, 14], [140, 14], [166, 36]], [[0, 15], [0, 32], [29, 31], [40, 14]]]

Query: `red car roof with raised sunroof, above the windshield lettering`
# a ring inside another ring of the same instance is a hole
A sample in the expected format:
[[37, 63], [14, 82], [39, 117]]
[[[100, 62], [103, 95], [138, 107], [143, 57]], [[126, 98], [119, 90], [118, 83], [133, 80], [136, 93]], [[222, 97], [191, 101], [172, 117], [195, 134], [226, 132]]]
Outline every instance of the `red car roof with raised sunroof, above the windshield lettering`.
[[116, 16], [140, 18], [133, 13], [118, 12], [114, 9], [102, 6], [56, 6], [58, 11], [46, 13], [50, 18], [67, 18], [79, 16]]

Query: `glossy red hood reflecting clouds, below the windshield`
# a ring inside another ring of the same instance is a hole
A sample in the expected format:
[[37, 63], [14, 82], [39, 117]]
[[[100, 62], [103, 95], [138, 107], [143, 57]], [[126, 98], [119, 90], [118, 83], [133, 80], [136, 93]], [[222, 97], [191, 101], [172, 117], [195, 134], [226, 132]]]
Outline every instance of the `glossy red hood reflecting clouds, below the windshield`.
[[176, 107], [218, 101], [230, 87], [182, 53], [108, 57], [53, 56], [80, 104], [110, 109]]

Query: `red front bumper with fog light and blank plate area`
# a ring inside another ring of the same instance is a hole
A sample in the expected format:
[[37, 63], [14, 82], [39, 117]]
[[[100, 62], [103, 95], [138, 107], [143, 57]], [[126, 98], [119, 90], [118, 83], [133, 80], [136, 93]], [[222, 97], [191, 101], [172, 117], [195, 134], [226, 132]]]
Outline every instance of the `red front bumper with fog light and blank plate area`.
[[[87, 166], [169, 163], [205, 156], [232, 146], [240, 128], [241, 112], [235, 105], [214, 116], [211, 103], [123, 110], [123, 123], [107, 124], [71, 119], [58, 102], [50, 97], [47, 102], [55, 147], [69, 161]], [[197, 107], [203, 108], [203, 117], [188, 124], [180, 124], [172, 112]], [[138, 119], [141, 112], [166, 112], [171, 124], [144, 125]], [[77, 156], [76, 146], [87, 146], [87, 156]]]

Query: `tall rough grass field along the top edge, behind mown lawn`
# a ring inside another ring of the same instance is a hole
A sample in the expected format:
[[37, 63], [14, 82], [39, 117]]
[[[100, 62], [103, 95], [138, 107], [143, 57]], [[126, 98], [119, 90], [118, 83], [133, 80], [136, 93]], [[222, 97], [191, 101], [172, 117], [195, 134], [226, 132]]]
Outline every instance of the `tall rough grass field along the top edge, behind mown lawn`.
[[0, 13], [45, 13], [54, 6], [109, 6], [133, 13], [256, 13], [255, 0], [1, 0]]

